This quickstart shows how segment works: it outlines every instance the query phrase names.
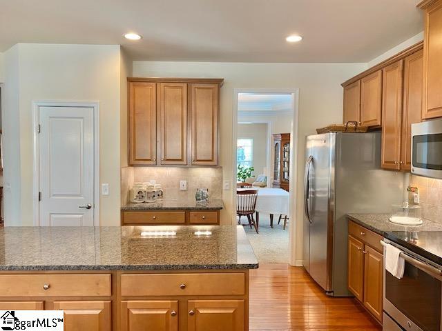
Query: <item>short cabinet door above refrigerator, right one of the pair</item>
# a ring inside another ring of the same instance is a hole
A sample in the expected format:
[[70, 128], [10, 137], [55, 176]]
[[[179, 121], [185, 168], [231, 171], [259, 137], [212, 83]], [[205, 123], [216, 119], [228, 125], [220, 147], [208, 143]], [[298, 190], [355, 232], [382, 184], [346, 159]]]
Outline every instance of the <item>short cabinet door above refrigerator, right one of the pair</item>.
[[361, 79], [361, 122], [363, 126], [381, 126], [382, 70]]

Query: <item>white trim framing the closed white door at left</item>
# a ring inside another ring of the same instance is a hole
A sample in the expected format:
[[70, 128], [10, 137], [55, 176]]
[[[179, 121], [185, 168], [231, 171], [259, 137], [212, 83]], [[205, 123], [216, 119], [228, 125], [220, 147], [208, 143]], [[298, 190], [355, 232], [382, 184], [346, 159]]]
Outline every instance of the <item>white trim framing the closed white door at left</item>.
[[82, 107], [93, 108], [93, 130], [94, 130], [94, 225], [99, 225], [99, 103], [88, 101], [33, 101], [32, 102], [32, 130], [33, 130], [33, 224], [40, 225], [40, 158], [39, 158], [39, 123], [41, 107]]

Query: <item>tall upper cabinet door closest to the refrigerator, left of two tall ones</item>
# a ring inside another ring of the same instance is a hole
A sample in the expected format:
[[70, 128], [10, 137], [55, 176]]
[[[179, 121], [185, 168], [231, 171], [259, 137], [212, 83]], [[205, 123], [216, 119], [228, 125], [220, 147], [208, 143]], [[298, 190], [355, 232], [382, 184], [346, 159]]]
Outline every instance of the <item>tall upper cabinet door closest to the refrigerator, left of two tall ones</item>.
[[381, 167], [384, 169], [401, 168], [402, 67], [403, 62], [398, 61], [382, 70]]

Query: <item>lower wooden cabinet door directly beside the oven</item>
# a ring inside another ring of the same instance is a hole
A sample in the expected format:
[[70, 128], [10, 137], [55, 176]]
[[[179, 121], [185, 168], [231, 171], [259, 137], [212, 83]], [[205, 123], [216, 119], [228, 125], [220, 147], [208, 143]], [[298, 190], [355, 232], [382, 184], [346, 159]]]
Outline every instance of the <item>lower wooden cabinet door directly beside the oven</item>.
[[365, 245], [364, 305], [376, 319], [382, 321], [383, 255]]

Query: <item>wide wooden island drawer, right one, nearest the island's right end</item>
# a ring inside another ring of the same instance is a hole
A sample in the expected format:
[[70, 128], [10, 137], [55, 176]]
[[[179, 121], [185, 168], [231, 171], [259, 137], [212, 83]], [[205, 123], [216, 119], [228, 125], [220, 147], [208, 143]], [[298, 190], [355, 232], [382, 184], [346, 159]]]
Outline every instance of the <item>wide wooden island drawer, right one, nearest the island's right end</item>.
[[243, 273], [122, 274], [124, 297], [175, 295], [243, 295]]

